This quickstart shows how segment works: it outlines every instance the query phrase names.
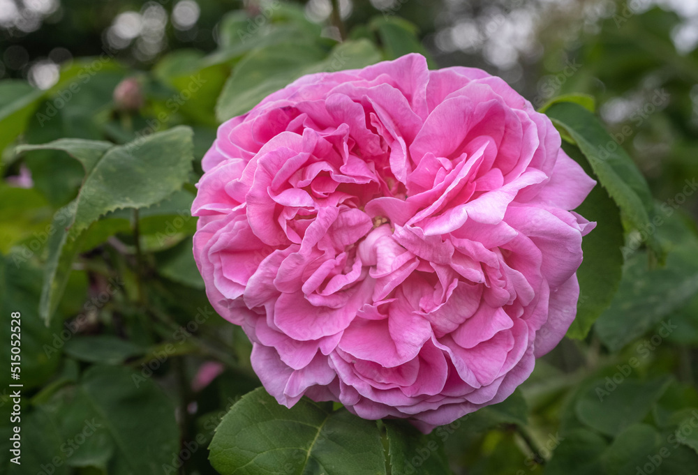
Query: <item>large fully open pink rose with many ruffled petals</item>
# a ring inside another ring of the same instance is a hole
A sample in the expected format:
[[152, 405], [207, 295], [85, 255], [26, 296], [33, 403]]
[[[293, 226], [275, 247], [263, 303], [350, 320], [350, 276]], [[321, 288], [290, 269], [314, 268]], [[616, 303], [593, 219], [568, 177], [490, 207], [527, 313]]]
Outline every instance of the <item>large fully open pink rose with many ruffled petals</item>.
[[307, 75], [223, 123], [202, 165], [207, 295], [283, 405], [429, 431], [505, 400], [574, 319], [595, 223], [570, 210], [595, 181], [482, 70], [409, 54]]

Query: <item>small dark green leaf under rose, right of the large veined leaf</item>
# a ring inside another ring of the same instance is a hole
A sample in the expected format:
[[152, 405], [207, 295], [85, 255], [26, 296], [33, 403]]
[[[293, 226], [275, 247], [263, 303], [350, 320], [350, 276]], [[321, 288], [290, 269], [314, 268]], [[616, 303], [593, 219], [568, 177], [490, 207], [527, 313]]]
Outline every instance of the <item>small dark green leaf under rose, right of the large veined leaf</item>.
[[[443, 444], [435, 434], [424, 435], [410, 423], [385, 421], [392, 474], [449, 475]], [[417, 468], [415, 468], [417, 467]]]

